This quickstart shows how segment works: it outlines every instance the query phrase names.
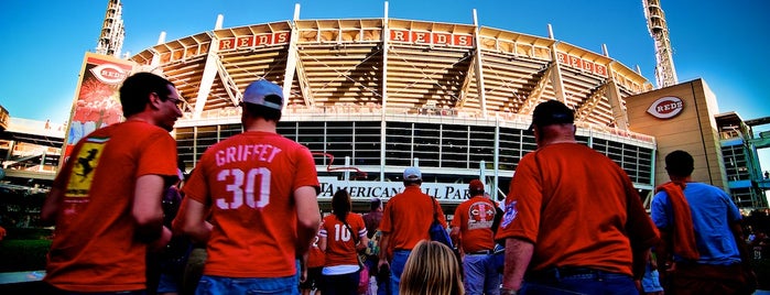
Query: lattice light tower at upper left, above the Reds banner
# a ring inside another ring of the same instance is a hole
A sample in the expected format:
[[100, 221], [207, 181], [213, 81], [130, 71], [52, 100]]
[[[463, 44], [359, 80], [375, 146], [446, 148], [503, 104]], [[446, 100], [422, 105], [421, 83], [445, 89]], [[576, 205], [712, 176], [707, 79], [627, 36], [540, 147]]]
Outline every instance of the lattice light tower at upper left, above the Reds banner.
[[109, 0], [105, 22], [101, 25], [101, 35], [96, 45], [96, 53], [120, 57], [120, 48], [123, 46], [126, 30], [122, 18], [123, 4], [120, 0]]

